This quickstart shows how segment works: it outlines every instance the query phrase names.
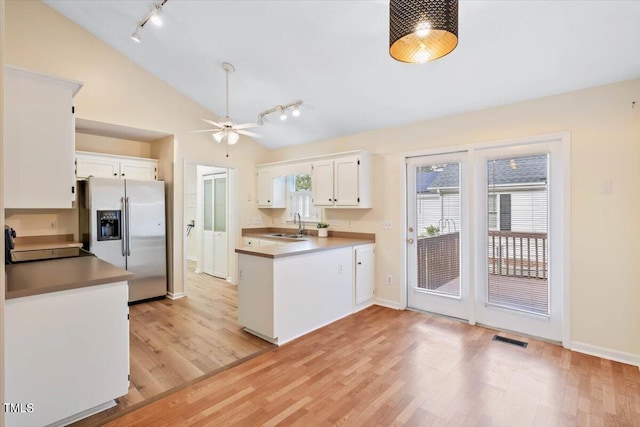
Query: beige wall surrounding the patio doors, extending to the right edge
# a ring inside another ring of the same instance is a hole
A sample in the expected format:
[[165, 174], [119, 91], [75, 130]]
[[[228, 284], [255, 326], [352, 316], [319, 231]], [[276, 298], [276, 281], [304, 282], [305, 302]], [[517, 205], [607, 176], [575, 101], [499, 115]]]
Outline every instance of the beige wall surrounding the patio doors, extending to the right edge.
[[[632, 102], [637, 104], [632, 109]], [[640, 79], [273, 151], [269, 161], [373, 153], [373, 209], [326, 210], [376, 233], [376, 293], [400, 301], [403, 153], [571, 132], [571, 340], [640, 360]], [[600, 194], [602, 181], [613, 194]], [[278, 212], [279, 213], [279, 212]], [[381, 220], [391, 219], [392, 230]], [[391, 274], [394, 285], [383, 278]]]

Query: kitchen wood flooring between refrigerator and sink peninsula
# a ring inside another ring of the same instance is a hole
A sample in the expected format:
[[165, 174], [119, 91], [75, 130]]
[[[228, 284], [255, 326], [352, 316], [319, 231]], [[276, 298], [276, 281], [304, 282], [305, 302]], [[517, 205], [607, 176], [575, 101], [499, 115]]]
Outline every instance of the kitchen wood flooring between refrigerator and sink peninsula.
[[188, 263], [188, 296], [129, 307], [131, 386], [118, 406], [76, 423], [101, 420], [274, 346], [241, 330], [236, 287]]

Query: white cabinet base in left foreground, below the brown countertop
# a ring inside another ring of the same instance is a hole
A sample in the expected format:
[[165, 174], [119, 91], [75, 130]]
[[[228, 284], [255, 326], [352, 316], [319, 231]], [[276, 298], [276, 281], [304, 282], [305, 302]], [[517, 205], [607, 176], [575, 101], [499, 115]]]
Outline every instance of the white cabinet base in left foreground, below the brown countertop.
[[127, 394], [128, 297], [117, 282], [6, 301], [7, 427], [66, 425]]

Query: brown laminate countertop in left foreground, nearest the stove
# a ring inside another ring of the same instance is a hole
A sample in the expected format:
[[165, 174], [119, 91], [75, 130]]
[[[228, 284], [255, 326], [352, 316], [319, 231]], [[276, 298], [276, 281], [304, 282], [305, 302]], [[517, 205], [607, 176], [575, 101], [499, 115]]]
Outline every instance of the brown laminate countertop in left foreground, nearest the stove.
[[5, 271], [6, 299], [133, 279], [133, 273], [95, 256], [9, 264]]

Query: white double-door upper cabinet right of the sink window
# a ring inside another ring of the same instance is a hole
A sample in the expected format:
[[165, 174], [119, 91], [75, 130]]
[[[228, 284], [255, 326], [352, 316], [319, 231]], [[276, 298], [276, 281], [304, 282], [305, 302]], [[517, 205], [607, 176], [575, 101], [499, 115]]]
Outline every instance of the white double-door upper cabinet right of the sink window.
[[370, 156], [367, 152], [336, 155], [312, 163], [315, 206], [371, 207]]

